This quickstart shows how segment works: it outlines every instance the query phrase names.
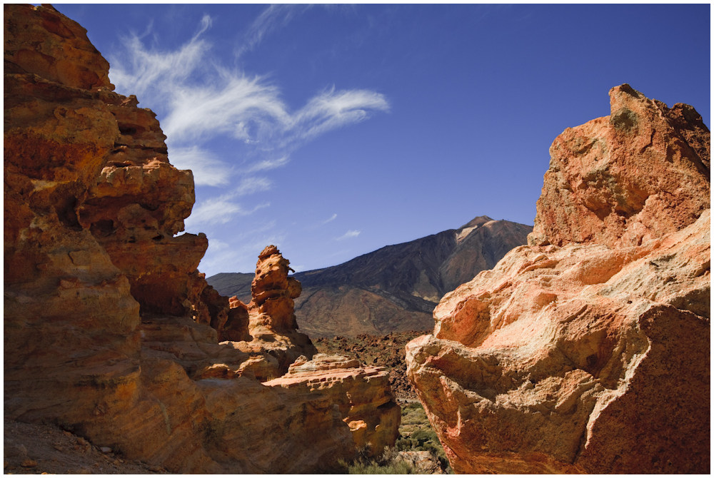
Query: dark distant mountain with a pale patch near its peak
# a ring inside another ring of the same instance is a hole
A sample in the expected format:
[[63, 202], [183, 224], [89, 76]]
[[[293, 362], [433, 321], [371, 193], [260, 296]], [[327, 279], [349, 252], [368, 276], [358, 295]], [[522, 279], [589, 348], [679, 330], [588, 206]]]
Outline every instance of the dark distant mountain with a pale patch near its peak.
[[[388, 245], [341, 265], [296, 273], [302, 332], [311, 337], [430, 330], [441, 297], [526, 244], [533, 228], [480, 216], [458, 229]], [[250, 300], [252, 275], [221, 273], [208, 283]]]

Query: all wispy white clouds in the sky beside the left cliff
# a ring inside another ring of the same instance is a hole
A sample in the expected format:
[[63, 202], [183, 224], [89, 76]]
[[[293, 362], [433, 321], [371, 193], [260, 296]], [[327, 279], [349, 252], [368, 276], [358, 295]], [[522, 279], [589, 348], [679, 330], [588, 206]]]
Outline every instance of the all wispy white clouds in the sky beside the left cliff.
[[[235, 66], [243, 54], [258, 49], [267, 36], [310, 8], [267, 6], [242, 37], [238, 34], [243, 41], [233, 51], [233, 61], [221, 59], [219, 47], [211, 41], [213, 19], [208, 15], [182, 44], [171, 48], [161, 44], [149, 19], [146, 31], [126, 36], [122, 48], [109, 58], [116, 91], [136, 94], [141, 106], [157, 113], [167, 136], [169, 160], [193, 171], [196, 205], [185, 221], [186, 229], [211, 230], [215, 244], [209, 242], [203, 265], [220, 265], [218, 249], [222, 248], [221, 257], [227, 257], [227, 243], [231, 243], [231, 257], [236, 256], [237, 236], [229, 226], [241, 218], [241, 225], [251, 227], [248, 216], [269, 207], [261, 195], [273, 188], [271, 171], [290, 164], [294, 151], [329, 131], [390, 110], [382, 93], [339, 89], [330, 83], [316, 85], [323, 90], [306, 98], [302, 106], [288, 106], [281, 90], [284, 85], [276, 78]], [[259, 221], [254, 218], [251, 224]], [[341, 239], [358, 234], [350, 230]], [[268, 231], [260, 237], [254, 245], [261, 243], [262, 248], [266, 240], [283, 238], [284, 233]], [[243, 240], [250, 241], [253, 238]], [[253, 248], [248, 250], [252, 257]]]

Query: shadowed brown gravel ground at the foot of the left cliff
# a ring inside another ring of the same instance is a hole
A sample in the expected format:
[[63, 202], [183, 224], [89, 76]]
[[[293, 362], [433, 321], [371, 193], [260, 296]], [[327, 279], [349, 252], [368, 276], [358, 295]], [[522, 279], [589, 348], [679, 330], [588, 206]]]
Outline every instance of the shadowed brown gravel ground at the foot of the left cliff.
[[125, 459], [53, 425], [5, 419], [4, 474], [148, 474], [160, 467]]

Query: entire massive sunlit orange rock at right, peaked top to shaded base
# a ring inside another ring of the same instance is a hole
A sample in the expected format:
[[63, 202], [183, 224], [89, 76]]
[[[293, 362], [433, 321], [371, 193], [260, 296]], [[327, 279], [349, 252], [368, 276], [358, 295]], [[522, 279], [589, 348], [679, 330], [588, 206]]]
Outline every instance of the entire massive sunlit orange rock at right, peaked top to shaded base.
[[710, 136], [690, 106], [610, 98], [553, 143], [531, 245], [406, 347], [456, 472], [708, 472]]

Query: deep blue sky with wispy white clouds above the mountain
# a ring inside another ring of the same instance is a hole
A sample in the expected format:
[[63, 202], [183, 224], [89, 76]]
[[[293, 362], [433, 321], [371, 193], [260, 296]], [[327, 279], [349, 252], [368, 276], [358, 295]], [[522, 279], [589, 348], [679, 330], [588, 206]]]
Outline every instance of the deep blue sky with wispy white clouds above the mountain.
[[710, 6], [55, 4], [193, 170], [210, 276], [533, 224], [548, 148], [630, 83], [710, 125]]

